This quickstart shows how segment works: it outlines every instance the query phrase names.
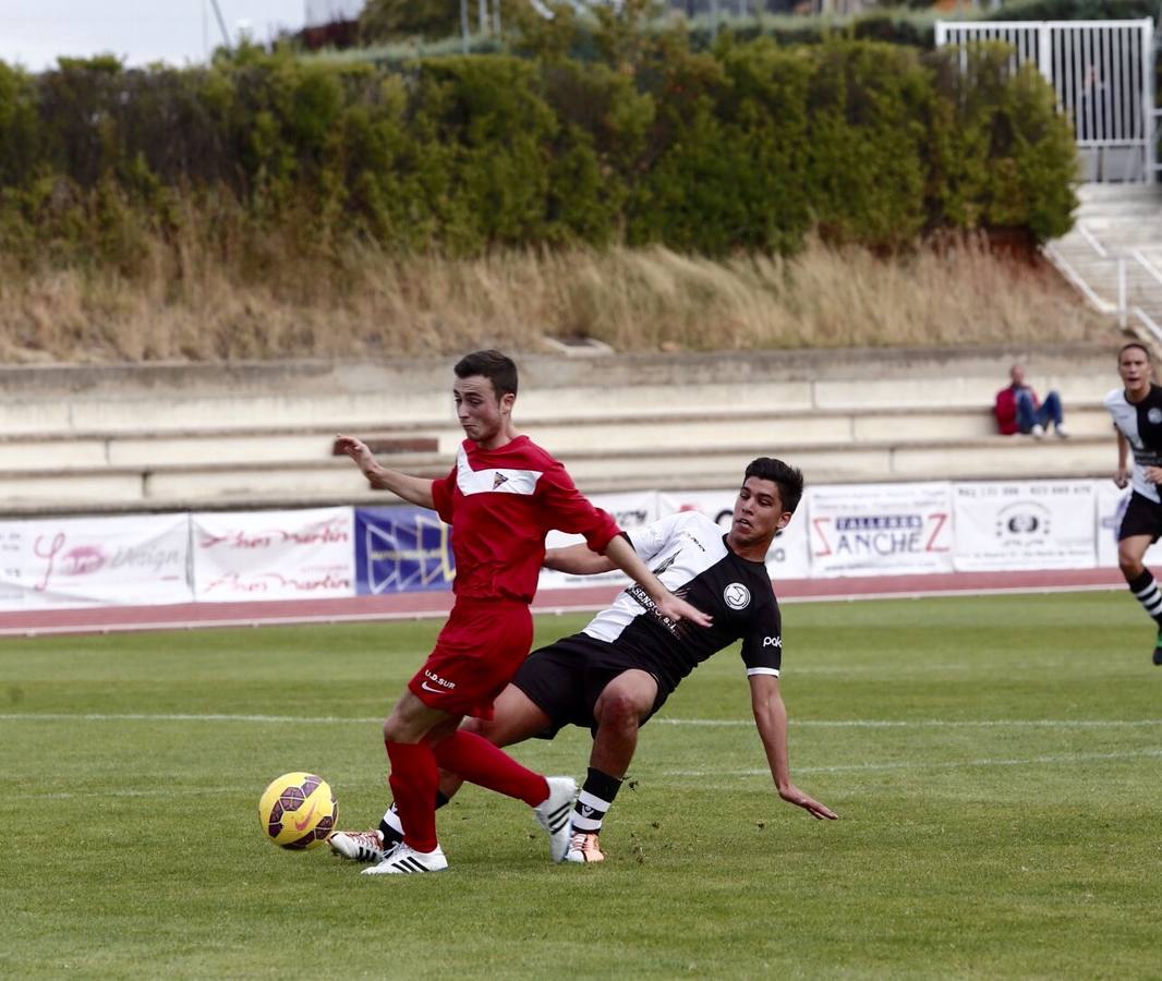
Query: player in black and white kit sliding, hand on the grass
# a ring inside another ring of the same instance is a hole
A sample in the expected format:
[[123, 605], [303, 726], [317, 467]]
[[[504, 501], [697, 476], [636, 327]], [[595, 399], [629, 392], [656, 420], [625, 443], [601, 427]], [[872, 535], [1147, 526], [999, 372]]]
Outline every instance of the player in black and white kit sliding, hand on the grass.
[[[697, 511], [629, 534], [658, 578], [710, 611], [713, 623], [674, 623], [640, 587], [630, 586], [581, 633], [533, 652], [496, 700], [492, 719], [465, 723], [501, 746], [530, 736], [553, 738], [565, 725], [593, 731], [589, 773], [573, 810], [566, 860], [604, 859], [598, 835], [637, 749], [638, 729], [698, 664], [739, 639], [754, 723], [780, 796], [812, 817], [835, 817], [791, 782], [787, 709], [779, 686], [782, 622], [763, 561], [802, 493], [797, 470], [762, 457], [746, 468], [726, 535]], [[550, 551], [545, 565], [576, 574], [612, 568], [583, 545]], [[440, 803], [460, 783], [454, 774], [445, 774]], [[331, 846], [347, 858], [378, 861], [385, 847], [399, 842], [400, 828], [400, 815], [389, 808], [378, 829], [336, 832]]]

